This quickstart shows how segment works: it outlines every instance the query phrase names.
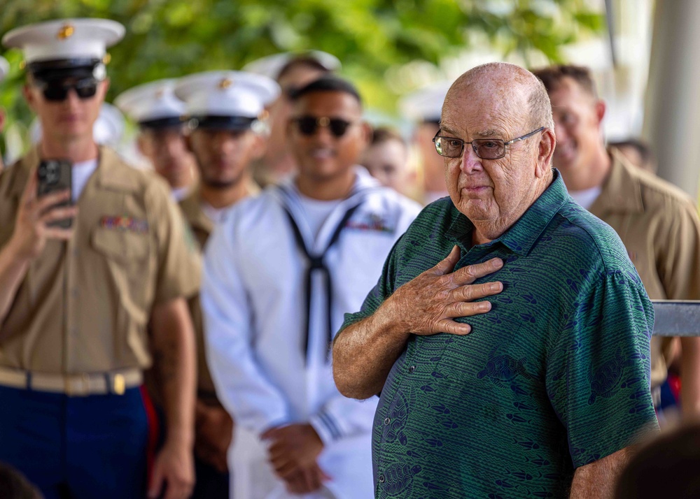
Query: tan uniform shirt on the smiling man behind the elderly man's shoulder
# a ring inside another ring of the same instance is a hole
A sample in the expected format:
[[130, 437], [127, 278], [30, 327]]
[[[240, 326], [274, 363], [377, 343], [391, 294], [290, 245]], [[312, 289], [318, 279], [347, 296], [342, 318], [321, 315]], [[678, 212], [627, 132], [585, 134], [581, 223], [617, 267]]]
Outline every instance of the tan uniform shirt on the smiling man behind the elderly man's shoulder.
[[[650, 298], [699, 300], [700, 221], [694, 203], [617, 150], [610, 154], [612, 168], [591, 212], [622, 239]], [[669, 341], [652, 338], [652, 386], [666, 379]]]

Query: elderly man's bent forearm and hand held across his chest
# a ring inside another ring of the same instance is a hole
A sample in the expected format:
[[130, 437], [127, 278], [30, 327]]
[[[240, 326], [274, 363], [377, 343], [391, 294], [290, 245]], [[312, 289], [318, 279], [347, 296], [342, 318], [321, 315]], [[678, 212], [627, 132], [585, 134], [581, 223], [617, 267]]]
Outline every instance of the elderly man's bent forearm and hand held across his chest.
[[503, 261], [493, 258], [454, 270], [458, 261], [455, 246], [446, 259], [396, 289], [370, 317], [335, 336], [333, 378], [340, 393], [359, 399], [376, 395], [410, 335], [465, 335], [471, 326], [454, 319], [491, 310], [488, 301], [473, 302], [500, 293], [503, 283], [473, 282], [502, 268]]

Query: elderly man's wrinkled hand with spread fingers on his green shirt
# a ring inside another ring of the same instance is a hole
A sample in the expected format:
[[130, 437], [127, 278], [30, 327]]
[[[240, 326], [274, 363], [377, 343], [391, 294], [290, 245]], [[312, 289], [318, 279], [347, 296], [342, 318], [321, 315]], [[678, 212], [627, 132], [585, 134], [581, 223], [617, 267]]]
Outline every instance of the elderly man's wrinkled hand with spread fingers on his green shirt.
[[382, 308], [392, 314], [402, 331], [416, 335], [465, 335], [470, 333], [471, 326], [454, 321], [456, 317], [469, 317], [491, 310], [488, 301], [472, 301], [500, 293], [503, 284], [472, 282], [503, 267], [503, 260], [493, 258], [453, 272], [459, 258], [459, 247], [455, 246], [446, 259], [402, 285], [386, 299]]

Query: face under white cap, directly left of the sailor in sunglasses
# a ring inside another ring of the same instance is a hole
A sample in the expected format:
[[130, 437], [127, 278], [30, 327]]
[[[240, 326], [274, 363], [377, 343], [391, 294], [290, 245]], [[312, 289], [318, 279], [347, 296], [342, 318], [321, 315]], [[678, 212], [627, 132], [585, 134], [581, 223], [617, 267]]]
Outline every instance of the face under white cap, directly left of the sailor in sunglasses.
[[248, 164], [262, 152], [260, 136], [250, 129], [196, 129], [188, 138], [197, 159], [202, 183], [214, 189], [228, 189], [240, 182]]

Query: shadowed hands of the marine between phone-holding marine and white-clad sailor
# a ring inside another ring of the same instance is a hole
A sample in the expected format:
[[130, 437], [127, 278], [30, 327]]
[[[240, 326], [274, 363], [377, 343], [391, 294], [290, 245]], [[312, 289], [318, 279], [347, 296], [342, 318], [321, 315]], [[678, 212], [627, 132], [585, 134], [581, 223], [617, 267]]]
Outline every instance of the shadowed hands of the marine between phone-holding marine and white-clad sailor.
[[197, 400], [195, 413], [195, 455], [214, 466], [218, 472], [228, 472], [227, 453], [233, 437], [233, 420], [223, 407], [207, 405]]

